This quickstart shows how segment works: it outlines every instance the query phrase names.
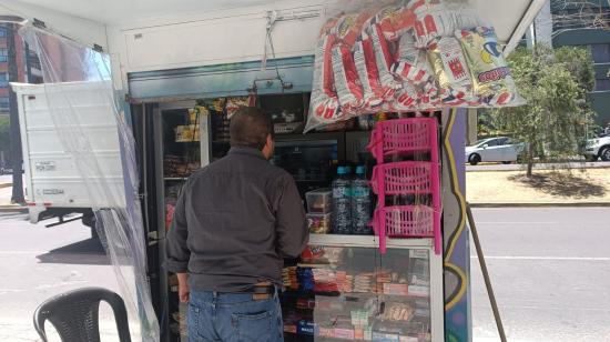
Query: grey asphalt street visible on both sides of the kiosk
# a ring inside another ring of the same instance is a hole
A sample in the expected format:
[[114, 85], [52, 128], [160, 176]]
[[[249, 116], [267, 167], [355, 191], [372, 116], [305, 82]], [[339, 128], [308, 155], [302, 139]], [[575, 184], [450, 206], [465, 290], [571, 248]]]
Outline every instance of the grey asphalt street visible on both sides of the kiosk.
[[[474, 210], [509, 341], [610, 341], [609, 214], [609, 208]], [[45, 228], [24, 214], [0, 215], [0, 341], [37, 341], [32, 314], [54, 294], [119, 290], [89, 238], [79, 221]], [[474, 341], [499, 341], [471, 254]], [[115, 341], [110, 310], [101, 315], [105, 341]]]

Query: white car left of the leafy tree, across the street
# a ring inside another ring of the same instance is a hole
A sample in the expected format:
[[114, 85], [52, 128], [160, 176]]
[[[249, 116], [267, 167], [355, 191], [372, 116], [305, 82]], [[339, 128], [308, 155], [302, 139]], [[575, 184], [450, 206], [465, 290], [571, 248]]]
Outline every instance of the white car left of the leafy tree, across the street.
[[466, 147], [466, 161], [476, 165], [481, 161], [496, 161], [509, 164], [517, 161], [523, 151], [525, 143], [516, 142], [508, 137], [488, 138]]

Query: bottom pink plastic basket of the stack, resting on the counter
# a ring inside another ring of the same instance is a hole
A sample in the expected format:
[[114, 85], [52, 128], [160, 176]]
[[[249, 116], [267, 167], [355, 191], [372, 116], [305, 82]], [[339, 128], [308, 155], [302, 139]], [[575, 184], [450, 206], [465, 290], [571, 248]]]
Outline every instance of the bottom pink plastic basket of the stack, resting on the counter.
[[379, 250], [386, 252], [386, 238], [434, 238], [440, 253], [440, 209], [427, 205], [386, 207], [375, 210], [373, 228], [379, 237]]

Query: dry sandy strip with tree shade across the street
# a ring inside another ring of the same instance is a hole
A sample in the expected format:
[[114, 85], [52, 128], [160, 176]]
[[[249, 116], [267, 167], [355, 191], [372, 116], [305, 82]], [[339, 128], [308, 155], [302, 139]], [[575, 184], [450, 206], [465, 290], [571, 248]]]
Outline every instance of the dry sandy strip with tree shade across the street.
[[466, 199], [474, 207], [610, 205], [610, 170], [466, 172]]

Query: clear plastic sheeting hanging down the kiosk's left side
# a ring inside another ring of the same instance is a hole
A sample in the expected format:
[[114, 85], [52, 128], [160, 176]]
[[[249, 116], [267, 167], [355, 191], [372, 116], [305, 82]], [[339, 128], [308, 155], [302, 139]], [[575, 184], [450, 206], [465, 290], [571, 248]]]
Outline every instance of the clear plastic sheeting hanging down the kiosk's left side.
[[94, 211], [128, 308], [132, 340], [159, 341], [146, 278], [135, 143], [112, 87], [109, 56], [32, 26], [23, 27], [21, 34], [40, 58], [51, 122]]

